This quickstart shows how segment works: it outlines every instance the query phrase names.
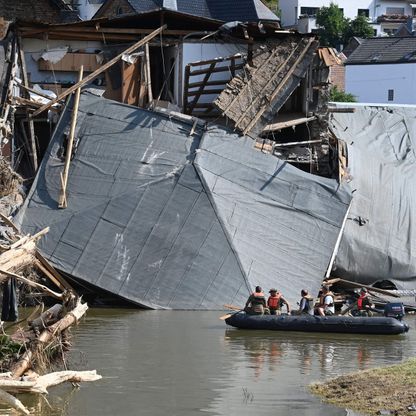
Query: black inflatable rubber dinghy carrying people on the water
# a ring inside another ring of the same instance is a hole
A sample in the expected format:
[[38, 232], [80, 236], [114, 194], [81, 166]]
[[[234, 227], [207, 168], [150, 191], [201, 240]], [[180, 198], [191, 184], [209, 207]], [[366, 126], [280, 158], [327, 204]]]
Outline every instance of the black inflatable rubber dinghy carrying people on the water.
[[272, 331], [397, 335], [409, 330], [406, 323], [391, 317], [247, 315], [245, 312], [237, 312], [225, 322], [240, 329]]

